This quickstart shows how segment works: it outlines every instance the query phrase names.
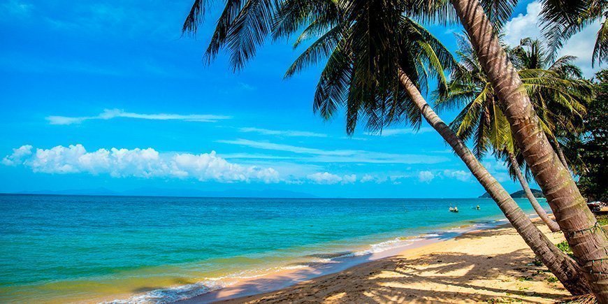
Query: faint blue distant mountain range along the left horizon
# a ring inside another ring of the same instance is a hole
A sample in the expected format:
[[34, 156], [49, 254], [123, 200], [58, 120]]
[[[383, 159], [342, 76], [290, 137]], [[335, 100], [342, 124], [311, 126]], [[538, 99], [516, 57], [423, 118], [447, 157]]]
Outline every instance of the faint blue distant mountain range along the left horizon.
[[253, 197], [253, 198], [316, 198], [312, 194], [276, 190], [229, 189], [224, 191], [203, 191], [198, 189], [159, 189], [153, 187], [138, 188], [127, 191], [113, 191], [106, 188], [20, 191], [15, 194], [50, 194], [50, 195], [92, 195], [92, 196], [176, 196], [176, 197]]

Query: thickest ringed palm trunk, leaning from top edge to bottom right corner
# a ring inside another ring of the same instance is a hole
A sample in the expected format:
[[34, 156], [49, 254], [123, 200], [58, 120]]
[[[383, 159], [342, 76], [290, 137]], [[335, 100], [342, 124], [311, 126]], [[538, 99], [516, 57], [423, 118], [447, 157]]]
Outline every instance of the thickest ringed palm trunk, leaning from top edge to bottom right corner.
[[478, 0], [451, 0], [470, 36], [479, 63], [498, 94], [526, 163], [553, 210], [591, 289], [600, 303], [608, 303], [608, 237], [572, 175], [564, 168], [538, 124], [532, 103], [519, 75], [502, 50], [493, 26]]

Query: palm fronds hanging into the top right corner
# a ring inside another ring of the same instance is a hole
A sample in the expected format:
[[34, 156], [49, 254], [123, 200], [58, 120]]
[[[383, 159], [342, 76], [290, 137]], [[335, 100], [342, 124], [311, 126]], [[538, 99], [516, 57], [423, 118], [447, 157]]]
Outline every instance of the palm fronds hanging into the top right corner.
[[542, 31], [549, 40], [552, 56], [574, 34], [593, 22], [604, 19], [595, 38], [591, 66], [595, 66], [596, 61], [602, 64], [608, 59], [608, 23], [605, 21], [608, 17], [607, 1], [545, 0], [542, 2], [540, 17], [543, 24]]

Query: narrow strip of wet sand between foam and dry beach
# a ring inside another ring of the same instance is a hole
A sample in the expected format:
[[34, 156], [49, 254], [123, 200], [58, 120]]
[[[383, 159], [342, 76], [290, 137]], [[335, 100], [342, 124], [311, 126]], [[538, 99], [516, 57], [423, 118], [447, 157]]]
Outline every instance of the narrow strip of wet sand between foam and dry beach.
[[[307, 263], [294, 268], [286, 268], [273, 273], [265, 273], [255, 277], [238, 278], [226, 282], [226, 286], [210, 290], [204, 294], [191, 298], [184, 298], [175, 303], [212, 303], [218, 301], [235, 301], [249, 297], [260, 296], [262, 294], [273, 293], [282, 289], [294, 287], [297, 284], [317, 280], [320, 277], [336, 275], [352, 268], [359, 267], [375, 261], [407, 254], [407, 252], [417, 249], [429, 248], [435, 244], [441, 244], [449, 240], [454, 240], [459, 236], [479, 231], [489, 231], [509, 226], [506, 219], [488, 220], [477, 224], [458, 225], [445, 228], [440, 231], [424, 233], [413, 239], [404, 239], [402, 244], [386, 248], [377, 252], [367, 254], [350, 253], [342, 256], [334, 256], [323, 262]], [[399, 240], [386, 240], [383, 243], [391, 243]], [[379, 243], [382, 244], [382, 243]], [[376, 245], [379, 245], [376, 244]], [[373, 247], [374, 245], [372, 245]], [[369, 251], [369, 250], [368, 250]]]

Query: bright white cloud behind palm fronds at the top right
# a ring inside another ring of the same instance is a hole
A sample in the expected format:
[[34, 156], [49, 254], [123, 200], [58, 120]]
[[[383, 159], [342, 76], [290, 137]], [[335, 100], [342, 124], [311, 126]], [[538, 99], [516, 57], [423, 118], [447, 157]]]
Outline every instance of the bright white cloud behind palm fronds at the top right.
[[[543, 39], [540, 26], [540, 11], [542, 4], [540, 1], [533, 1], [526, 6], [526, 13], [520, 13], [516, 17], [509, 20], [503, 28], [505, 43], [511, 46], [519, 45], [522, 38], [540, 38]], [[600, 29], [600, 21], [589, 24], [578, 34], [572, 36], [567, 43], [558, 52], [558, 56], [572, 55], [578, 57], [575, 61], [583, 70], [587, 77], [593, 76], [598, 67], [591, 68], [591, 56], [593, 55], [593, 45], [597, 31]]]

